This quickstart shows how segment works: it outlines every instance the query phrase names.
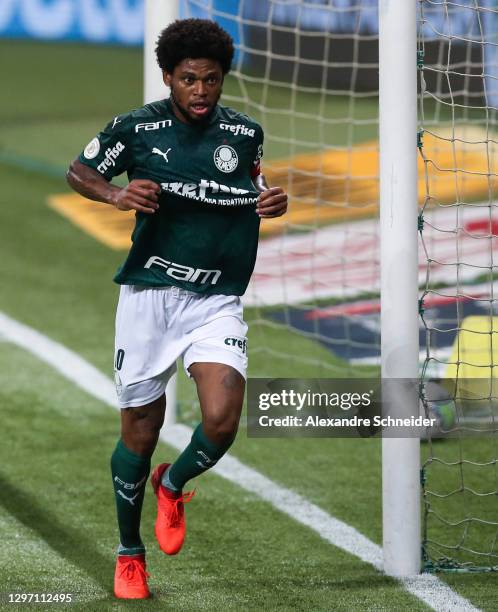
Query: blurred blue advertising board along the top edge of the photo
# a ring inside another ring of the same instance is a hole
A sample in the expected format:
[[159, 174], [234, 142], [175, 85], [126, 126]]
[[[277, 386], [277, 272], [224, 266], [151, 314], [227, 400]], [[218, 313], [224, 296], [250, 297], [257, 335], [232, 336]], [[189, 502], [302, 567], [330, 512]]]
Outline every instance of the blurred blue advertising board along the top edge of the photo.
[[[168, 0], [163, 0], [167, 2]], [[376, 34], [378, 0], [181, 0], [180, 17], [215, 19], [238, 44], [240, 19], [300, 30]], [[425, 8], [426, 36], [476, 37], [485, 27], [498, 35], [496, 0], [460, 0]], [[143, 41], [144, 0], [0, 0], [0, 36], [85, 40], [139, 45]], [[455, 41], [457, 42], [457, 41]]]

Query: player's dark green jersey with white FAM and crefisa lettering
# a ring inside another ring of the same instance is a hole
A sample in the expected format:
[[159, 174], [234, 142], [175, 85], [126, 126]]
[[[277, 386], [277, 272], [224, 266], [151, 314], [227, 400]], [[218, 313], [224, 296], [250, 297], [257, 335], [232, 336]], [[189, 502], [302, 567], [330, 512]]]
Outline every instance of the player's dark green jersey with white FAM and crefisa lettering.
[[114, 280], [176, 285], [197, 293], [242, 295], [256, 261], [263, 131], [218, 105], [206, 123], [183, 123], [171, 102], [118, 115], [79, 160], [111, 180], [150, 179], [159, 209], [136, 213], [132, 246]]

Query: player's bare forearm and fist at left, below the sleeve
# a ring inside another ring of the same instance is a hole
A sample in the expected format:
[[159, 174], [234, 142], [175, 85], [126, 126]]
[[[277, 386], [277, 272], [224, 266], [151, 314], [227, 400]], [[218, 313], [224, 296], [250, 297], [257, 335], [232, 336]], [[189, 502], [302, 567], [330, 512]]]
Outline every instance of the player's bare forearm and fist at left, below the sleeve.
[[160, 187], [146, 179], [134, 179], [126, 187], [118, 187], [107, 181], [93, 168], [82, 164], [76, 158], [66, 173], [69, 185], [89, 200], [104, 202], [118, 210], [138, 210], [146, 214], [154, 213]]

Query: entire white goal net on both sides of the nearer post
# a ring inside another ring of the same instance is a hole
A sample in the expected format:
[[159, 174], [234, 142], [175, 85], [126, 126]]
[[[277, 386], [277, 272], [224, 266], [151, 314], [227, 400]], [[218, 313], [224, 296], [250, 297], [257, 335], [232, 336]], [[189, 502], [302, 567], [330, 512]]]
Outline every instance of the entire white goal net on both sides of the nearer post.
[[[421, 399], [451, 430], [422, 446], [423, 556], [429, 570], [490, 568], [498, 9], [417, 3]], [[262, 222], [244, 297], [250, 375], [379, 375], [378, 0], [183, 0], [181, 16], [234, 37], [222, 101], [261, 123], [264, 173], [290, 196]]]

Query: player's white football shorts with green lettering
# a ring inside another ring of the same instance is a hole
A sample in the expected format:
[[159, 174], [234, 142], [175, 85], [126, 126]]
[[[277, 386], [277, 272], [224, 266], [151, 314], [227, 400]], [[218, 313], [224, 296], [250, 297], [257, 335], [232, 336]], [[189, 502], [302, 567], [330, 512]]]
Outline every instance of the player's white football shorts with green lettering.
[[180, 356], [187, 376], [193, 363], [214, 362], [232, 366], [246, 378], [246, 334], [238, 296], [122, 285], [114, 352], [121, 408], [160, 397]]

